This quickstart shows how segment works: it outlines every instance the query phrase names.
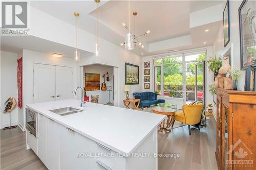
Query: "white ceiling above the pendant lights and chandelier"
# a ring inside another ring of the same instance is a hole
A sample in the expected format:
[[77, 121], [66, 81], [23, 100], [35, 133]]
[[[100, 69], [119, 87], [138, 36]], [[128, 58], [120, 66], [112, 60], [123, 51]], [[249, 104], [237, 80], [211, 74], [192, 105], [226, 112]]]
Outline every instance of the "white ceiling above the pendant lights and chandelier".
[[[134, 18], [132, 12], [137, 11], [136, 34], [151, 30], [150, 34], [139, 38], [144, 44], [191, 34], [191, 45], [172, 48], [172, 50], [208, 46], [214, 42], [221, 22], [210, 23], [202, 27], [190, 29], [189, 13], [224, 2], [225, 1], [131, 1], [131, 31], [134, 32]], [[75, 25], [73, 13], [79, 12], [78, 27], [92, 34], [96, 34], [96, 3], [94, 1], [31, 1], [31, 6], [71, 23], [72, 25]], [[99, 37], [117, 45], [124, 41], [124, 36], [127, 31], [121, 23], [124, 22], [126, 25], [128, 24], [127, 1], [101, 1], [99, 3], [98, 18], [100, 22], [98, 28]], [[210, 31], [205, 34], [204, 29], [209, 29]], [[203, 44], [203, 42], [207, 42], [207, 44]], [[145, 56], [165, 53], [166, 50], [171, 50], [171, 48], [148, 52], [146, 49], [142, 49], [138, 46], [132, 52], [138, 55], [144, 53]]]

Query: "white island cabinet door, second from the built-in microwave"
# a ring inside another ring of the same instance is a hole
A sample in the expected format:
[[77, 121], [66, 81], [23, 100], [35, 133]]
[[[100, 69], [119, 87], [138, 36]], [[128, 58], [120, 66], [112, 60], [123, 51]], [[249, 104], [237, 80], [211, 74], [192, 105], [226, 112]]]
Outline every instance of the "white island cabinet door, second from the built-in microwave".
[[59, 130], [60, 126], [54, 120], [47, 118], [47, 163], [48, 169], [59, 169]]

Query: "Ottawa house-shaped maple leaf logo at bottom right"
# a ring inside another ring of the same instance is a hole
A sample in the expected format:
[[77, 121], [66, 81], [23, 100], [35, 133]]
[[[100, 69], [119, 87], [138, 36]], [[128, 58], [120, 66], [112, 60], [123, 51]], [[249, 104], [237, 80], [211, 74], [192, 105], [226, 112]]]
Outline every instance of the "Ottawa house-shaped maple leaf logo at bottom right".
[[[231, 160], [232, 153], [234, 155], [233, 160]], [[241, 139], [234, 143], [234, 145], [230, 146], [228, 154], [229, 160], [226, 161], [228, 165], [232, 165], [234, 167], [253, 167], [253, 160], [247, 159], [248, 156], [253, 154]]]

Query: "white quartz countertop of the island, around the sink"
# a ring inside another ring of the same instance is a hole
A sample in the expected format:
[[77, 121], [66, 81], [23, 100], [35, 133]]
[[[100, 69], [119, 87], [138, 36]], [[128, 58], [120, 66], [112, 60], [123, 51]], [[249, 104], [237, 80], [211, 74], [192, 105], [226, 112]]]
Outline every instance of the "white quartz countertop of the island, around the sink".
[[[115, 152], [124, 154], [133, 152], [165, 117], [90, 102], [80, 107], [80, 101], [73, 99], [29, 104], [27, 107]], [[84, 111], [66, 116], [49, 111], [63, 107], [74, 107]]]

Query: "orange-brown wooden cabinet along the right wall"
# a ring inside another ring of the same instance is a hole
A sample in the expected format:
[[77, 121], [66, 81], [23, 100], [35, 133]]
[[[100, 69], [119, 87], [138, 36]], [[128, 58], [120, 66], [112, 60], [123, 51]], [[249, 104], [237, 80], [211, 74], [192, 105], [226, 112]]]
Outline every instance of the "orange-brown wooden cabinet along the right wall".
[[219, 170], [256, 169], [256, 92], [217, 88]]

